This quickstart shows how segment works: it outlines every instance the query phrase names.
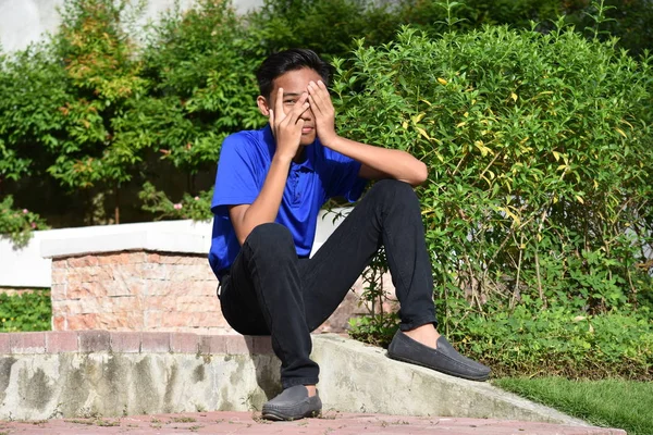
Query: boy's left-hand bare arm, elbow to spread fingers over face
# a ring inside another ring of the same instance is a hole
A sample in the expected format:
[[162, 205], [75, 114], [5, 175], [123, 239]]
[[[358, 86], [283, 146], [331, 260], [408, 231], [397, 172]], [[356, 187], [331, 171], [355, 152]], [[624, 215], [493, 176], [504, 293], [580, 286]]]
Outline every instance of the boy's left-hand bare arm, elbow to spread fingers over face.
[[307, 95], [299, 97], [293, 109], [283, 112], [283, 88], [279, 88], [275, 109], [270, 109], [270, 125], [276, 150], [270, 164], [263, 187], [251, 204], [232, 206], [229, 209], [238, 243], [243, 245], [249, 233], [260, 224], [274, 222], [281, 206], [283, 190], [288, 177], [291, 162], [299, 147], [304, 120], [299, 116], [308, 109]]

